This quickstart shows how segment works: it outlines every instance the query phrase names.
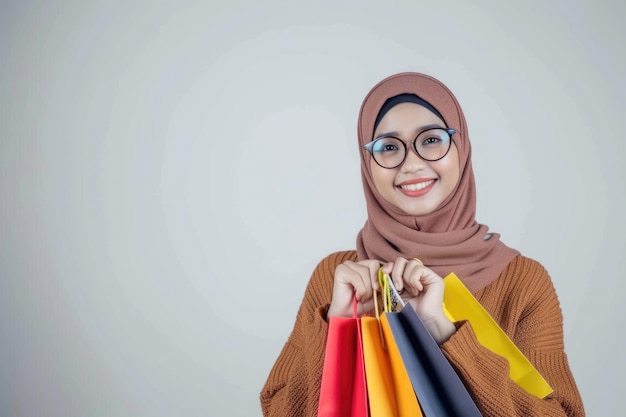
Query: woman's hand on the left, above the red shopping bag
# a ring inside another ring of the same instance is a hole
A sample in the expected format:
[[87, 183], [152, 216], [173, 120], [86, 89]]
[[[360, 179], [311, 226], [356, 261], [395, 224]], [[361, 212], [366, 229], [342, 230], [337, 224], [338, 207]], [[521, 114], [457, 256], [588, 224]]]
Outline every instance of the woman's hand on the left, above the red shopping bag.
[[374, 309], [372, 289], [378, 289], [378, 269], [382, 262], [366, 260], [346, 261], [335, 269], [333, 298], [327, 317], [352, 317], [352, 299], [356, 296], [357, 314]]

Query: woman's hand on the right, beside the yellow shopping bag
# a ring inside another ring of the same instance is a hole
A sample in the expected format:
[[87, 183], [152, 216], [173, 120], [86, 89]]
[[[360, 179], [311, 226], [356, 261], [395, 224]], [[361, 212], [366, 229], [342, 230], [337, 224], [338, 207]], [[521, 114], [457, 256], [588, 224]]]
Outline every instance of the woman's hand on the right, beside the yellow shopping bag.
[[443, 279], [416, 259], [398, 258], [383, 266], [405, 302], [415, 312], [438, 344], [456, 332], [456, 326], [443, 313]]

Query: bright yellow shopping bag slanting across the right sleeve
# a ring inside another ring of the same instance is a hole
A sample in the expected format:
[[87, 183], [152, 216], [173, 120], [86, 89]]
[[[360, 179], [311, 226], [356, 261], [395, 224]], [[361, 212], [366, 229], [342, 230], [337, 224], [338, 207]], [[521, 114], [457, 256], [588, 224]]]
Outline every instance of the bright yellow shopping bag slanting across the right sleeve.
[[498, 326], [455, 274], [444, 278], [444, 312], [450, 321], [468, 320], [478, 342], [509, 362], [509, 376], [526, 392], [545, 398], [552, 388], [519, 348]]

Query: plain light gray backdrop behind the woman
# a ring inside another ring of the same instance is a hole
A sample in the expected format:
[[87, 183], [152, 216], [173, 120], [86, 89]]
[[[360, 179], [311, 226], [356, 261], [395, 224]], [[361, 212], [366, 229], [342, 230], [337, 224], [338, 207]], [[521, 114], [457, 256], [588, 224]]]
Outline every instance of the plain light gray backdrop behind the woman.
[[551, 273], [623, 413], [623, 1], [0, 3], [0, 415], [260, 416], [310, 274], [366, 213], [367, 91], [431, 74], [478, 220]]

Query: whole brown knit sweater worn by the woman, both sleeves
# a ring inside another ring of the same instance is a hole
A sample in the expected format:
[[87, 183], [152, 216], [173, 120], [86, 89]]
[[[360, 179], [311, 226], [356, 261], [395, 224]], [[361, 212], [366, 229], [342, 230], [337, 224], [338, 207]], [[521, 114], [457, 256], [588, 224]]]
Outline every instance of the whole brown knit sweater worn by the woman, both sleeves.
[[[334, 253], [313, 272], [293, 331], [261, 392], [266, 417], [317, 415], [326, 311], [335, 268], [346, 260], [356, 261], [356, 252]], [[526, 393], [510, 380], [508, 362], [483, 348], [468, 322], [459, 323], [441, 349], [482, 414], [584, 416], [564, 352], [561, 308], [546, 270], [536, 261], [517, 256], [498, 279], [474, 295], [554, 389], [545, 399]]]

